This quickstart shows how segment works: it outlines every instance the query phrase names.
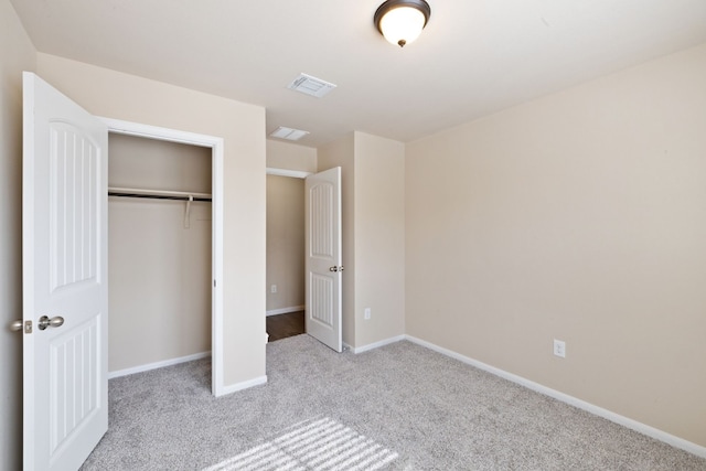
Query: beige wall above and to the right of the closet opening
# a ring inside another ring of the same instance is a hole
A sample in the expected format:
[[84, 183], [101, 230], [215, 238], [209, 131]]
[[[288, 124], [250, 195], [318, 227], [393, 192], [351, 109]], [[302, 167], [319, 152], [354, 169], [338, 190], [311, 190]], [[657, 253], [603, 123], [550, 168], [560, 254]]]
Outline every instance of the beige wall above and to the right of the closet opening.
[[265, 109], [39, 54], [39, 75], [89, 113], [224, 138], [224, 383], [265, 375]]

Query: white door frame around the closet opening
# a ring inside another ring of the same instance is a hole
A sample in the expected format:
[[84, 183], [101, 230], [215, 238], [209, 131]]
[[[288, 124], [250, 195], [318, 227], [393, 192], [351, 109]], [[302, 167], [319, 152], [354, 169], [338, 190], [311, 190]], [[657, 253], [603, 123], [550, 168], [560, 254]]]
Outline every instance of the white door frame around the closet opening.
[[[224, 139], [215, 136], [201, 135], [158, 126], [142, 125], [97, 117], [108, 126], [108, 141], [110, 132], [127, 135], [147, 139], [156, 139], [170, 142], [179, 142], [190, 146], [211, 148], [211, 194], [212, 194], [212, 223], [211, 223], [211, 270], [212, 304], [211, 304], [211, 392], [214, 396], [228, 394], [224, 385], [223, 364], [223, 161]], [[109, 157], [108, 157], [109, 158]]]

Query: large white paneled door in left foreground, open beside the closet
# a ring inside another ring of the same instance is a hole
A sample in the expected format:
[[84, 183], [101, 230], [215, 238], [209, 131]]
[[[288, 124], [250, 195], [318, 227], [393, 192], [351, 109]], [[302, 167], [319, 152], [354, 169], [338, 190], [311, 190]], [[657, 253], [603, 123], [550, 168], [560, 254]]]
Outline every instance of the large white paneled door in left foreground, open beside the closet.
[[34, 74], [23, 94], [24, 469], [74, 470], [108, 429], [108, 130]]

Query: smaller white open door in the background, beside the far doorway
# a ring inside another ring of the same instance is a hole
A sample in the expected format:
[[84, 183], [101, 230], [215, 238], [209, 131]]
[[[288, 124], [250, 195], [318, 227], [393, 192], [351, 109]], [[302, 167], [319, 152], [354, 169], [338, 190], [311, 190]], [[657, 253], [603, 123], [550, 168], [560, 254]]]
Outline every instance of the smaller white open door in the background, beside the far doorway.
[[307, 176], [304, 186], [307, 333], [341, 352], [341, 168]]

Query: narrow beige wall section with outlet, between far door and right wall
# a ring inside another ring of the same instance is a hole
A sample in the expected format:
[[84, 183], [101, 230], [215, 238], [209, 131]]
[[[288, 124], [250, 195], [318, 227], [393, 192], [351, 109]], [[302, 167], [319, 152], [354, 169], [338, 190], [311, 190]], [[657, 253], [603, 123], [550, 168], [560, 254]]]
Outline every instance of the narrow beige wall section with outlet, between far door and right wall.
[[355, 132], [353, 275], [355, 346], [404, 334], [405, 146], [363, 132]]

